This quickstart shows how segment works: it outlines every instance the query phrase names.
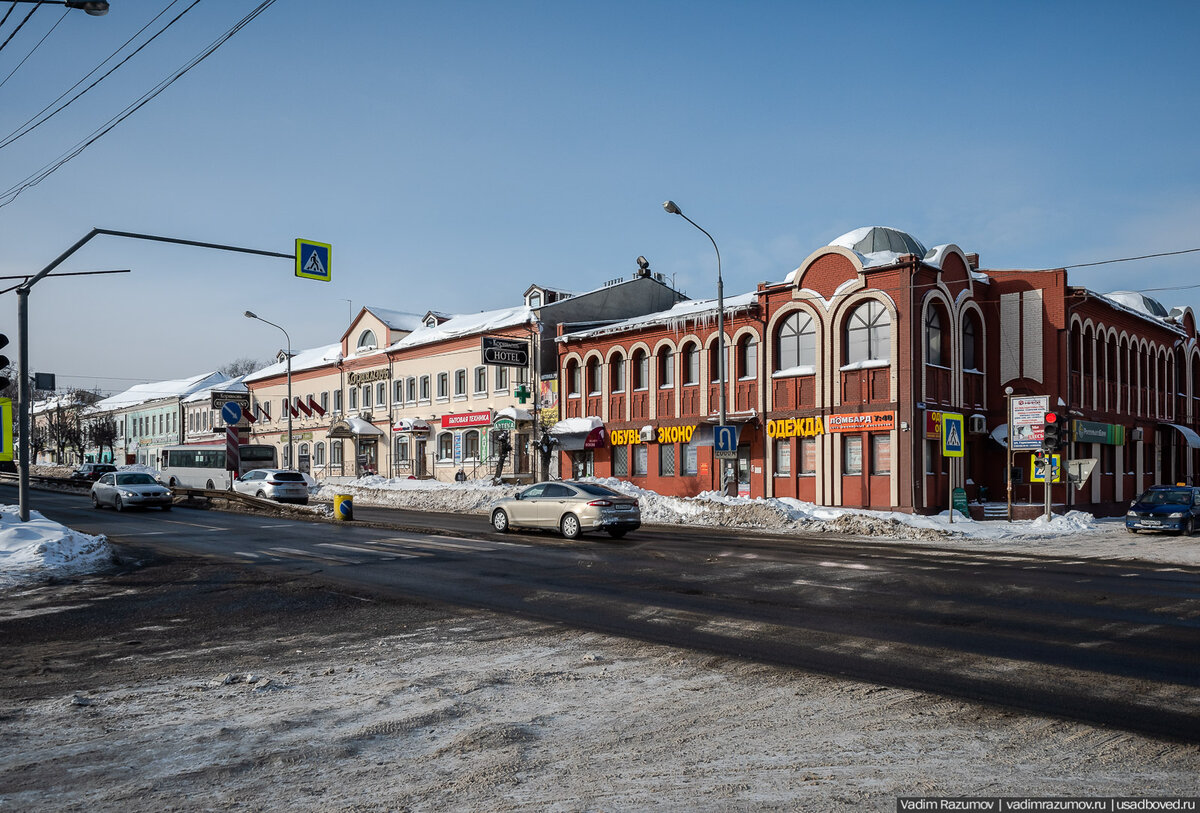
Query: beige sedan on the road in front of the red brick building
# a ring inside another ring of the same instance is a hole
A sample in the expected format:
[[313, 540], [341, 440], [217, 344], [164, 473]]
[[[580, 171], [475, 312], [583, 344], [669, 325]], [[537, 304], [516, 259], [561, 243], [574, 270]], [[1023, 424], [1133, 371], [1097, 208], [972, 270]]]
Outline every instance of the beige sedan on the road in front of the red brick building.
[[492, 510], [492, 528], [557, 528], [569, 540], [583, 531], [607, 531], [620, 538], [642, 524], [637, 499], [606, 486], [574, 480], [538, 483]]

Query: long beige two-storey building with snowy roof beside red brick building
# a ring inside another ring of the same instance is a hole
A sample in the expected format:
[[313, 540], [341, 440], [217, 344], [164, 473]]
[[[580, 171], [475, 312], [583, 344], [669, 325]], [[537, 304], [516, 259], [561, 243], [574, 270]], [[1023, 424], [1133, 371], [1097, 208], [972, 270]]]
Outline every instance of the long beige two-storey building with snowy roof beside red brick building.
[[[683, 299], [640, 271], [581, 295], [530, 285], [524, 303], [470, 314], [364, 307], [337, 344], [246, 377], [252, 438], [276, 445], [281, 464], [314, 477], [491, 477], [498, 433], [511, 445], [503, 476], [539, 476], [538, 441], [558, 420], [559, 324], [598, 325]], [[528, 363], [486, 363], [484, 338], [528, 348]], [[546, 379], [542, 381], [542, 379]], [[288, 414], [295, 463], [288, 460]], [[548, 456], [547, 456], [548, 459]]]

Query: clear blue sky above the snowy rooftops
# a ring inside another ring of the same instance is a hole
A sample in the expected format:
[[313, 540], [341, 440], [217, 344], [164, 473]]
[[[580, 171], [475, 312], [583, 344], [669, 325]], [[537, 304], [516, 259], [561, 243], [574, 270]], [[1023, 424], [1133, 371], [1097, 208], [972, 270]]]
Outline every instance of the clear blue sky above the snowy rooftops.
[[[166, 5], [70, 12], [0, 86], [0, 137]], [[199, 2], [0, 149], [0, 188], [256, 5]], [[0, 80], [61, 14], [41, 8], [0, 52]], [[41, 282], [31, 366], [60, 387], [118, 391], [266, 360], [283, 337], [246, 309], [301, 349], [337, 341], [352, 307], [508, 307], [533, 282], [588, 290], [628, 276], [640, 254], [688, 295], [714, 296], [712, 246], [662, 211], [667, 198], [716, 239], [730, 295], [860, 225], [954, 242], [994, 269], [1195, 248], [1196, 30], [1194, 2], [283, 0], [0, 207], [0, 273], [40, 270], [94, 225], [334, 245], [324, 284], [286, 260], [92, 241], [62, 270], [133, 273]], [[1190, 254], [1070, 281], [1184, 287], [1198, 267]], [[1152, 295], [1200, 309], [1200, 288]], [[16, 311], [16, 295], [0, 297], [10, 336]]]

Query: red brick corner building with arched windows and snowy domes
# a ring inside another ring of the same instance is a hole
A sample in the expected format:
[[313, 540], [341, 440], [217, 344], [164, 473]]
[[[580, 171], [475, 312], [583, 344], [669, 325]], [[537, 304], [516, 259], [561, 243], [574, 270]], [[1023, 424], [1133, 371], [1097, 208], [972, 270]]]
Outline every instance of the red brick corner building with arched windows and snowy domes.
[[[852, 231], [781, 283], [725, 301], [728, 422], [738, 492], [820, 505], [936, 512], [971, 500], [1040, 504], [1027, 451], [1007, 447], [1008, 396], [1045, 396], [1069, 420], [1072, 459], [1096, 458], [1055, 504], [1123, 512], [1154, 482], [1196, 471], [1200, 349], [1190, 309], [1068, 285], [1066, 271], [980, 271], [947, 243]], [[559, 336], [571, 428], [562, 471], [674, 495], [719, 489], [715, 301]], [[1010, 390], [1010, 392], [1009, 392]], [[942, 456], [943, 412], [965, 454]]]

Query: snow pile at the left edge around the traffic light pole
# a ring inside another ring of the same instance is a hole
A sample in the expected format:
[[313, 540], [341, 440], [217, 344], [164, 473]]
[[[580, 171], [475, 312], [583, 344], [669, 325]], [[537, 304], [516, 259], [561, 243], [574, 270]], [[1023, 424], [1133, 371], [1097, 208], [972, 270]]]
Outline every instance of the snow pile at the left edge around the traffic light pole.
[[20, 522], [20, 510], [0, 505], [0, 588], [100, 570], [113, 560], [104, 536], [89, 536], [37, 511]]

